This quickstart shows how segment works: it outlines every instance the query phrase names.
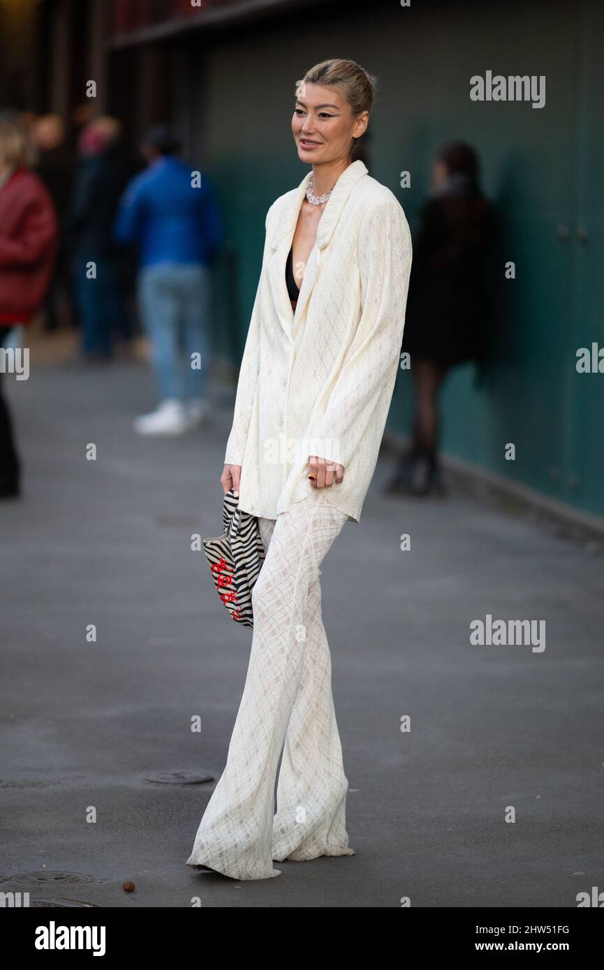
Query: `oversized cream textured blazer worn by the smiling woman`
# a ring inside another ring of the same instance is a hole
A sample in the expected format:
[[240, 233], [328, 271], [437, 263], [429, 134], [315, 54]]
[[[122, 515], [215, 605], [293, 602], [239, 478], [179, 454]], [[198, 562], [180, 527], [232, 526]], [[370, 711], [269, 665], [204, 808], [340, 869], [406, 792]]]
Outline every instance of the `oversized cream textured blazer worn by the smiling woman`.
[[321, 491], [359, 522], [398, 371], [411, 233], [394, 194], [352, 162], [320, 217], [294, 313], [285, 262], [311, 175], [266, 216], [224, 463], [242, 467], [240, 508], [276, 519], [314, 491], [309, 456], [333, 460], [344, 481]]

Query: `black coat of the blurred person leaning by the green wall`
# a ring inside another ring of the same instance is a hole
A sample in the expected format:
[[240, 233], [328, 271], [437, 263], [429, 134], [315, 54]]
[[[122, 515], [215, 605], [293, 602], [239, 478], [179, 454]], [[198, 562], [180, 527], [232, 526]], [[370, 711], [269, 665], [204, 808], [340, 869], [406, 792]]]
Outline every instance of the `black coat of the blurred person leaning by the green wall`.
[[481, 195], [444, 195], [423, 206], [402, 342], [412, 361], [485, 360], [492, 234], [492, 210]]

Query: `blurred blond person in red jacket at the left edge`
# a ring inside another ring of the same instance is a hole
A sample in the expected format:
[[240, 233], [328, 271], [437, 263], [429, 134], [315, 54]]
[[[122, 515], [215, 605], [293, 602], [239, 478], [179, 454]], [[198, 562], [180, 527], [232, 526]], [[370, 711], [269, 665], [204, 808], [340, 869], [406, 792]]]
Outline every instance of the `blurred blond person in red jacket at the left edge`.
[[[2, 375], [15, 367], [7, 338], [44, 305], [58, 229], [50, 195], [30, 169], [32, 146], [16, 113], [0, 115], [0, 499], [19, 494], [20, 462]], [[27, 348], [25, 348], [27, 349]]]

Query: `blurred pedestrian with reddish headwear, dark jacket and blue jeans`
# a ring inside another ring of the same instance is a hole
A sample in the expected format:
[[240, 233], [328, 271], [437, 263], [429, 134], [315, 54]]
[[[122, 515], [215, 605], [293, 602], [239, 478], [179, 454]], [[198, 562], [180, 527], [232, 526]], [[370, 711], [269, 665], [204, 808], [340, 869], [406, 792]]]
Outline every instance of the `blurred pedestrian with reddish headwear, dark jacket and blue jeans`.
[[84, 127], [79, 140], [69, 234], [86, 362], [112, 360], [117, 339], [128, 332], [123, 254], [113, 236], [127, 180], [118, 136], [116, 119], [100, 117]]

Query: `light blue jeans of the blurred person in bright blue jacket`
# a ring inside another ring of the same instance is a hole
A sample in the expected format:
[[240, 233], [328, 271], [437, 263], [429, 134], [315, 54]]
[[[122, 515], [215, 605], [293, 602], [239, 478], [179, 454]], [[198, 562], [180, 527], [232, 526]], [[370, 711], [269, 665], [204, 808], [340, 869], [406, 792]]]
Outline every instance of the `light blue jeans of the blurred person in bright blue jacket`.
[[211, 352], [208, 268], [198, 263], [145, 267], [138, 278], [138, 302], [143, 328], [151, 340], [160, 400], [205, 398]]

